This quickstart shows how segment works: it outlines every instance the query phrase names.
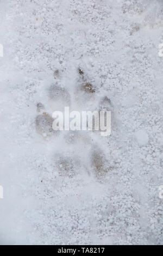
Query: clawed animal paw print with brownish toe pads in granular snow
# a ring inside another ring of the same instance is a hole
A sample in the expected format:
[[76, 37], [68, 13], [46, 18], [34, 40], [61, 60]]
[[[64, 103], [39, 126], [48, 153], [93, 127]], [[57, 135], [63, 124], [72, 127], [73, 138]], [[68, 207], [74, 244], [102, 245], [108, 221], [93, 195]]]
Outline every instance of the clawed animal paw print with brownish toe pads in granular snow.
[[[54, 83], [47, 88], [48, 107], [51, 109], [51, 113], [55, 110], [62, 111], [65, 106], [69, 106], [73, 110], [78, 110], [83, 107], [90, 107], [90, 103], [93, 101], [98, 111], [110, 111], [112, 109], [112, 103], [108, 96], [99, 97], [98, 88], [93, 86], [92, 81], [87, 77], [85, 72], [81, 69], [77, 69], [77, 84], [74, 92], [62, 86], [62, 74], [59, 70], [54, 71]], [[97, 103], [96, 103], [97, 102]], [[76, 108], [78, 107], [78, 109]], [[88, 108], [87, 107], [87, 108]], [[91, 110], [91, 109], [90, 109]], [[79, 173], [81, 167], [85, 168], [86, 172], [95, 176], [98, 181], [103, 181], [106, 174], [110, 172], [112, 167], [105, 157], [104, 152], [99, 148], [98, 143], [95, 144], [89, 131], [54, 131], [52, 129], [53, 124], [52, 114], [46, 111], [45, 106], [39, 102], [37, 103], [37, 115], [35, 119], [36, 131], [42, 137], [51, 137], [61, 134], [61, 138], [64, 140], [67, 151], [65, 153], [56, 153], [53, 160], [53, 168], [58, 170], [59, 175], [73, 178]], [[78, 145], [80, 149], [74, 154], [74, 147]], [[82, 154], [87, 151], [89, 155], [86, 160], [87, 163], [83, 163]]]

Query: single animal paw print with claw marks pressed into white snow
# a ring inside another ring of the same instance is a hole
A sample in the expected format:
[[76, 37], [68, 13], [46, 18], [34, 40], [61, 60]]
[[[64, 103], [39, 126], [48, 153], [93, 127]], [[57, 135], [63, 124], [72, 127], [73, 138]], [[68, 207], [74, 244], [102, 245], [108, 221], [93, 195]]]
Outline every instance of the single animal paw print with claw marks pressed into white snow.
[[[96, 101], [96, 96], [98, 93], [98, 89], [92, 85], [92, 82], [85, 76], [84, 71], [79, 68], [77, 70], [78, 72], [78, 80], [77, 80], [77, 86], [74, 89], [74, 94], [70, 95], [68, 90], [64, 87], [61, 87], [60, 84], [57, 82], [57, 78], [60, 77], [59, 70], [56, 70], [54, 72], [54, 78], [56, 82], [51, 84], [47, 90], [48, 95], [48, 104], [51, 105], [51, 109], [56, 109], [56, 106], [58, 109], [59, 107], [65, 107], [65, 106], [71, 106], [72, 103], [72, 97], [75, 101], [76, 106], [84, 106], [86, 103], [93, 102], [97, 103], [97, 109], [98, 111], [109, 111], [112, 108], [111, 101], [108, 96], [103, 96], [99, 101]], [[81, 109], [81, 108], [80, 108]], [[53, 124], [53, 118], [50, 114], [48, 114], [45, 111], [45, 106], [43, 104], [37, 103], [37, 116], [35, 119], [36, 124], [36, 131], [42, 135], [43, 137], [47, 136], [56, 136], [58, 135], [58, 132], [60, 131], [54, 131], [52, 129]], [[67, 131], [67, 134], [65, 136], [65, 143], [68, 145], [73, 145], [75, 143], [78, 143], [79, 147], [87, 147], [87, 145], [90, 145], [89, 149], [89, 169], [92, 170], [93, 174], [98, 178], [98, 180], [103, 180], [105, 175], [108, 173], [109, 170], [112, 169], [110, 166], [108, 160], [105, 157], [105, 154], [103, 151], [98, 147], [98, 145], [95, 145], [92, 143], [91, 136], [89, 135], [89, 132], [82, 133], [80, 136], [80, 131]], [[80, 144], [80, 139], [82, 139], [82, 143]], [[90, 137], [90, 138], [89, 138]], [[83, 146], [85, 145], [85, 146]], [[78, 159], [78, 155], [69, 156], [66, 157], [64, 154], [55, 155], [55, 168], [58, 169], [58, 173], [60, 175], [66, 175], [70, 178], [73, 178], [74, 175], [77, 174], [77, 170], [79, 170], [81, 166], [80, 161], [74, 161], [74, 159]]]

